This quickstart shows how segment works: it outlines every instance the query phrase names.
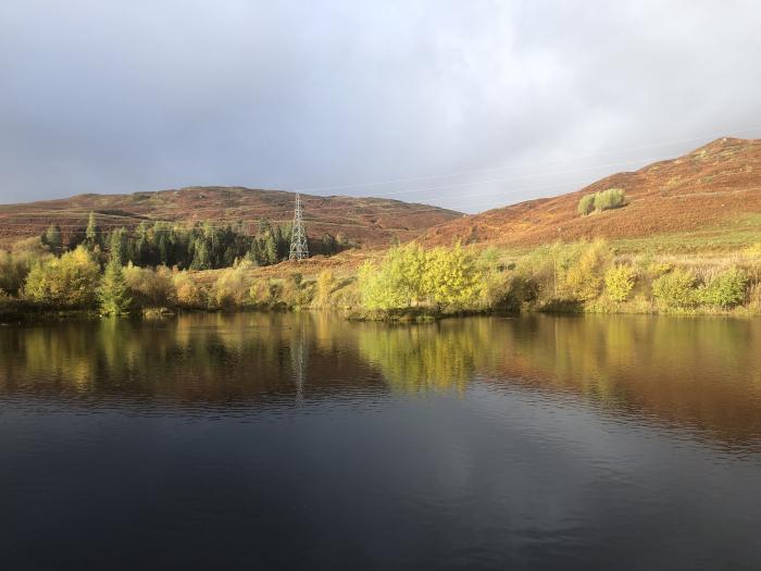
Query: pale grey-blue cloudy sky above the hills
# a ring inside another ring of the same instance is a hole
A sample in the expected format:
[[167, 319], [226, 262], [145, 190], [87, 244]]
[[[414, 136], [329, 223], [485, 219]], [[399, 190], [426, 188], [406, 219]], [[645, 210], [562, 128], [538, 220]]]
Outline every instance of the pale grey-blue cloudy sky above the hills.
[[759, 29], [758, 0], [3, 0], [0, 203], [559, 195], [761, 138]]

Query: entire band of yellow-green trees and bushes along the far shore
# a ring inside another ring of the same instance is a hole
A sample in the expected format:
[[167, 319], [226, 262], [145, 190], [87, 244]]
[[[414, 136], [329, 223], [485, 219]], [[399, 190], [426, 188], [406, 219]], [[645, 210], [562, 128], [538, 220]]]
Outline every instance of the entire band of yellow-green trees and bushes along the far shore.
[[[96, 226], [96, 238], [99, 235]], [[269, 232], [269, 231], [265, 231]], [[92, 236], [92, 232], [89, 233]], [[486, 311], [761, 313], [761, 246], [725, 257], [622, 252], [604, 240], [534, 250], [395, 246], [357, 270], [321, 263], [264, 270], [140, 266], [127, 232], [55, 256], [57, 232], [0, 252], [0, 314], [87, 310], [340, 309], [364, 319]], [[150, 243], [153, 234], [149, 232]], [[15, 308], [15, 310], [14, 310]]]

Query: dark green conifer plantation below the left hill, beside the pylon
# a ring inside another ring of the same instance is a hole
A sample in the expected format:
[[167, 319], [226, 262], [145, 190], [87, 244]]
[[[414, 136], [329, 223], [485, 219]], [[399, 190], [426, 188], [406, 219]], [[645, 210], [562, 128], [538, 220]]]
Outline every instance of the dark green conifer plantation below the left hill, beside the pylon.
[[[257, 224], [254, 235], [244, 232], [242, 223], [216, 225], [210, 222], [190, 227], [155, 222], [140, 223], [134, 231], [115, 228], [102, 231], [95, 214], [88, 225], [72, 233], [64, 245], [63, 234], [51, 225], [41, 241], [55, 256], [73, 251], [79, 246], [95, 253], [101, 263], [108, 261], [101, 253], [116, 252], [124, 264], [139, 268], [165, 265], [191, 270], [230, 268], [236, 261], [248, 260], [254, 265], [271, 265], [287, 259], [290, 249], [290, 225], [273, 225], [266, 220]], [[313, 255], [332, 256], [348, 248], [345, 235], [325, 234], [322, 239], [309, 239]]]

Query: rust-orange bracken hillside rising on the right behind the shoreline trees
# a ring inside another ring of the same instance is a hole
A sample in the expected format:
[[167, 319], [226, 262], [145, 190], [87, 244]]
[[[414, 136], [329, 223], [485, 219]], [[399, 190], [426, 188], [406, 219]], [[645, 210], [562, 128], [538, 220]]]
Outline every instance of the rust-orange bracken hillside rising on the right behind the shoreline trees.
[[[623, 188], [621, 209], [579, 216], [582, 196]], [[606, 237], [624, 247], [729, 249], [761, 239], [761, 140], [721, 138], [674, 160], [602, 178], [578, 191], [463, 216], [424, 244], [531, 247]]]

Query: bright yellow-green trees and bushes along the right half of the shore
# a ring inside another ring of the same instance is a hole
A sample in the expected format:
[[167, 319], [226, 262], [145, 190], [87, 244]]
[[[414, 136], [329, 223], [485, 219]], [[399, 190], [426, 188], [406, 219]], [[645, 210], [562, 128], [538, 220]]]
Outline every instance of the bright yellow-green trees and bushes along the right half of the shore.
[[360, 269], [371, 315], [504, 310], [628, 313], [761, 313], [761, 245], [701, 259], [616, 255], [604, 240], [556, 243], [511, 257], [461, 246], [411, 244]]

